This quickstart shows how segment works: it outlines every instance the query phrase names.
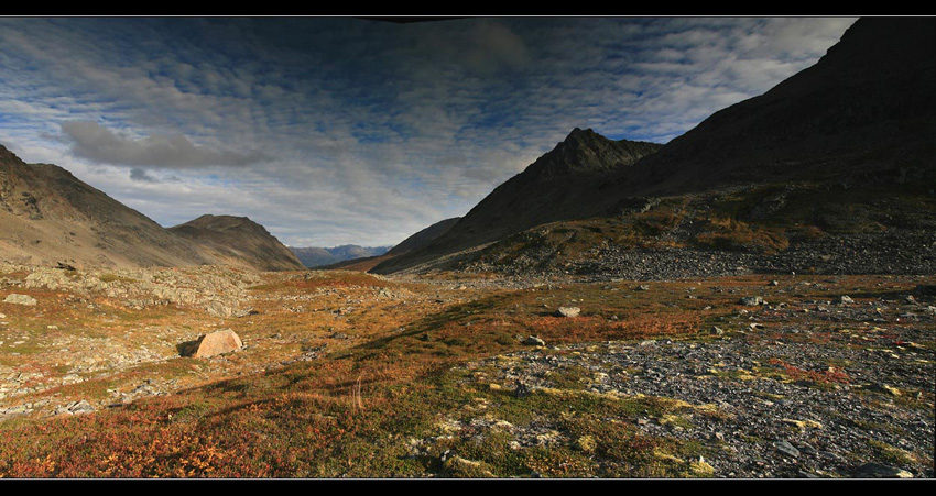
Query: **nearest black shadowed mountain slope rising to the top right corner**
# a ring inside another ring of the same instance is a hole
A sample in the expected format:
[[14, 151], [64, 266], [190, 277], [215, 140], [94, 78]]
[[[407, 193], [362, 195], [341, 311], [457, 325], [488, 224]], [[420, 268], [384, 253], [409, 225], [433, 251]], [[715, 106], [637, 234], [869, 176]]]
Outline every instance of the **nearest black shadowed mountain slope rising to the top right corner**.
[[614, 195], [599, 198], [796, 179], [932, 178], [934, 33], [933, 18], [860, 19], [814, 66], [716, 112], [638, 167], [612, 173], [597, 189]]

